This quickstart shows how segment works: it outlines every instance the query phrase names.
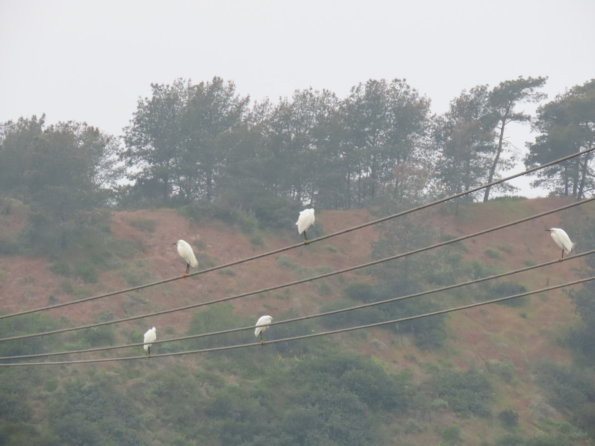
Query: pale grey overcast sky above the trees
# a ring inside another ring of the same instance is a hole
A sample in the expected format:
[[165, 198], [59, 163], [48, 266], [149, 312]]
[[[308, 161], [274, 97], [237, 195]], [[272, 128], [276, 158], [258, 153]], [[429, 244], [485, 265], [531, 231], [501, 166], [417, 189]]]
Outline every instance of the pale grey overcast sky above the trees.
[[45, 113], [120, 135], [151, 83], [178, 77], [274, 102], [405, 78], [441, 114], [478, 84], [548, 76], [552, 100], [595, 77], [594, 17], [593, 0], [0, 0], [0, 122]]

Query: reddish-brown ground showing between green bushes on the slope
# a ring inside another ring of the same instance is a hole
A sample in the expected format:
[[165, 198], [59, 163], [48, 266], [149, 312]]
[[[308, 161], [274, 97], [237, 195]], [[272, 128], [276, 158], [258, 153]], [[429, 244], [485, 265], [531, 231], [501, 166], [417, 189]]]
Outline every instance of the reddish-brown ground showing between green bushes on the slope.
[[[431, 218], [443, 234], [461, 237], [568, 203], [568, 199], [561, 198], [519, 200], [512, 205], [503, 200], [485, 205], [476, 203], [472, 206], [461, 206], [456, 216], [428, 213], [427, 218]], [[589, 212], [591, 211], [592, 208]], [[20, 213], [11, 218], [0, 219], [0, 230], [10, 232], [22, 227], [26, 220], [23, 215]], [[544, 229], [563, 227], [561, 221], [565, 220], [565, 215], [560, 212], [553, 213], [493, 233], [472, 237], [462, 242], [466, 250], [461, 252], [465, 260], [478, 260], [493, 266], [497, 271], [509, 271], [528, 264], [556, 259], [560, 255], [559, 249]], [[363, 209], [317, 211], [316, 217], [318, 224], [324, 226], [327, 234], [374, 219]], [[155, 221], [155, 230], [143, 231], [131, 225], [131, 222], [139, 219]], [[102, 272], [96, 284], [84, 284], [77, 279], [52, 274], [47, 268], [48, 261], [40, 257], [0, 256], [0, 311], [12, 313], [44, 307], [48, 305], [50, 296], [60, 301], [72, 301], [80, 297], [128, 288], [130, 285], [123, 278], [125, 274], [137, 275], [139, 283], [179, 277], [183, 274], [185, 265], [177, 255], [173, 243], [180, 238], [194, 247], [199, 269], [205, 268], [205, 265], [221, 265], [245, 259], [302, 240], [293, 227], [285, 231], [265, 233], [264, 245], [254, 246], [250, 243], [253, 234], [244, 234], [239, 228], [228, 227], [218, 221], [200, 226], [193, 225], [171, 209], [115, 212], [111, 229], [115, 237], [142, 241], [145, 250], [137, 252], [131, 259], [122, 260], [121, 268]], [[296, 280], [295, 271], [279, 266], [277, 257], [287, 256], [292, 262], [311, 268], [320, 265], [330, 266], [334, 271], [366, 263], [369, 261], [370, 242], [377, 237], [377, 231], [367, 227], [320, 243], [231, 266], [228, 268], [231, 272], [208, 272], [132, 293], [61, 307], [52, 310], [51, 314], [66, 316], [73, 325], [79, 325], [92, 323], [105, 309], [111, 310], [117, 318], [124, 318], [234, 296]], [[577, 244], [577, 250], [580, 252], [580, 244]], [[538, 289], [577, 279], [577, 271], [583, 267], [583, 259], [569, 260], [506, 280], [522, 282], [528, 289]], [[341, 275], [340, 278], [322, 279], [296, 287], [241, 297], [231, 300], [231, 303], [234, 312], [245, 316], [248, 323], [256, 321], [262, 314], [274, 315], [290, 308], [299, 314], [308, 315], [318, 312], [320, 305], [325, 301], [338, 299], [341, 288], [349, 281], [370, 280], [367, 275], [352, 271]], [[72, 290], [64, 287], [64, 282], [70, 283]], [[321, 294], [319, 282], [327, 284], [330, 293]], [[152, 325], [170, 326], [171, 336], [174, 336], [186, 330], [192, 313], [199, 310], [178, 311], [129, 324], [130, 328], [143, 331]], [[519, 315], [521, 312], [525, 313], [525, 318]], [[503, 384], [498, 392], [502, 398], [508, 398], [506, 401], [514, 401], [515, 409], [521, 414], [521, 422], [530, 423], [531, 417], [528, 411], [524, 410], [533, 402], [533, 391], [536, 391], [533, 384], [530, 384], [530, 366], [543, 357], [569, 363], [569, 351], [559, 347], [556, 338], [562, 338], [577, 319], [566, 294], [559, 290], [550, 291], [531, 296], [528, 306], [509, 307], [492, 304], [450, 313], [447, 316], [449, 338], [446, 347], [452, 352], [449, 357], [419, 351], [407, 337], [396, 337], [383, 329], [370, 330], [365, 337], [366, 340], [359, 344], [359, 351], [368, 356], [382, 358], [395, 370], [414, 369], [416, 379], [422, 379], [424, 376], [425, 372], [417, 366], [424, 362], [435, 363], [446, 359], [459, 368], [484, 368], [486, 360], [511, 360], [518, 378], [524, 382], [524, 387], [513, 390], [508, 384]], [[348, 342], [349, 337], [348, 333], [345, 338], [337, 339], [339, 342], [342, 339]]]

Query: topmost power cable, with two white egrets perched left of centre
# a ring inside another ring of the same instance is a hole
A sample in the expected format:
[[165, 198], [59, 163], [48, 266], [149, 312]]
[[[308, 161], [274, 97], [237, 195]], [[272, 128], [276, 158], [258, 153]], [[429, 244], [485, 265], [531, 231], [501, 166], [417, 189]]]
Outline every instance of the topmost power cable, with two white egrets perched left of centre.
[[[513, 178], [517, 178], [517, 177], [521, 177], [522, 175], [530, 174], [531, 172], [535, 172], [535, 171], [538, 171], [540, 169], [549, 167], [551, 165], [558, 164], [560, 162], [566, 161], [568, 159], [575, 158], [576, 156], [584, 155], [584, 153], [591, 152], [591, 150], [595, 150], [595, 147], [591, 147], [590, 149], [582, 150], [581, 152], [572, 153], [572, 155], [568, 155], [568, 156], [565, 156], [563, 158], [556, 159], [555, 161], [551, 161], [551, 162], [548, 162], [546, 164], [541, 164], [541, 165], [539, 165], [537, 167], [528, 169], [528, 170], [523, 171], [523, 172], [520, 172], [518, 174], [510, 175], [509, 177], [505, 177], [505, 178], [502, 178], [500, 180], [495, 180], [495, 181], [492, 181], [491, 183], [484, 184], [483, 186], [478, 186], [478, 187], [475, 187], [474, 189], [470, 189], [470, 190], [467, 190], [467, 191], [464, 191], [464, 192], [461, 192], [461, 193], [458, 193], [458, 194], [455, 194], [455, 195], [451, 195], [449, 197], [444, 197], [443, 199], [436, 200], [434, 202], [427, 203], [425, 205], [420, 205], [420, 206], [417, 206], [416, 208], [408, 209], [407, 211], [402, 211], [402, 212], [394, 213], [393, 215], [385, 216], [383, 218], [372, 220], [372, 221], [363, 223], [361, 225], [357, 225], [357, 226], [354, 226], [354, 227], [351, 227], [351, 228], [347, 228], [345, 230], [337, 231], [336, 233], [322, 235], [321, 237], [314, 238], [314, 239], [310, 240], [309, 243], [315, 243], [317, 241], [325, 240], [325, 239], [330, 238], [330, 237], [336, 237], [337, 235], [346, 234], [346, 233], [349, 233], [349, 232], [352, 232], [352, 231], [355, 231], [355, 230], [358, 230], [358, 229], [361, 229], [361, 228], [368, 227], [370, 225], [378, 224], [378, 223], [387, 221], [389, 219], [393, 219], [393, 218], [396, 218], [396, 217], [399, 217], [399, 216], [407, 215], [408, 213], [412, 213], [412, 212], [416, 212], [416, 211], [421, 211], [422, 209], [429, 208], [430, 206], [438, 205], [440, 203], [444, 203], [444, 202], [447, 202], [449, 200], [453, 200], [453, 199], [456, 199], [456, 198], [459, 198], [459, 197], [462, 197], [462, 196], [465, 196], [465, 195], [468, 195], [468, 194], [477, 192], [477, 191], [479, 191], [481, 189], [486, 189], [487, 187], [491, 187], [491, 186], [495, 186], [496, 184], [504, 183], [505, 181], [512, 180]], [[282, 247], [282, 248], [279, 248], [279, 249], [275, 249], [273, 251], [269, 251], [269, 252], [266, 252], [266, 253], [258, 254], [258, 255], [252, 256], [252, 257], [246, 257], [245, 259], [240, 259], [240, 260], [235, 260], [234, 262], [225, 263], [224, 265], [213, 266], [212, 268], [206, 268], [206, 269], [203, 269], [201, 271], [192, 272], [192, 273], [188, 274], [186, 277], [195, 276], [195, 275], [199, 275], [199, 274], [205, 274], [206, 272], [216, 271], [217, 269], [228, 268], [230, 266], [239, 265], [240, 263], [249, 262], [250, 260], [261, 259], [262, 257], [267, 257], [267, 256], [271, 256], [271, 255], [274, 255], [274, 254], [278, 254], [278, 253], [281, 253], [281, 252], [284, 252], [284, 251], [287, 251], [287, 250], [290, 250], [290, 249], [293, 249], [293, 248], [296, 248], [296, 247], [300, 247], [300, 246], [303, 246], [303, 243], [296, 243], [296, 244], [293, 244], [293, 245], [290, 245], [290, 246], [286, 246], [286, 247]], [[141, 290], [142, 288], [154, 287], [155, 285], [161, 285], [161, 284], [164, 284], [164, 283], [167, 283], [167, 282], [171, 282], [171, 281], [174, 281], [174, 280], [179, 280], [179, 279], [182, 279], [182, 278], [184, 278], [183, 275], [182, 276], [178, 276], [178, 277], [169, 278], [169, 279], [163, 279], [163, 280], [156, 281], [156, 282], [151, 282], [149, 284], [138, 285], [136, 287], [126, 288], [124, 290], [118, 290], [118, 291], [112, 291], [110, 293], [99, 294], [98, 296], [85, 297], [83, 299], [73, 300], [73, 301], [69, 301], [69, 302], [57, 303], [57, 304], [54, 304], [54, 305], [40, 307], [40, 308], [37, 308], [37, 309], [24, 310], [24, 311], [21, 311], [21, 312], [11, 313], [11, 314], [8, 314], [8, 315], [0, 315], [0, 319], [11, 318], [13, 316], [27, 315], [27, 314], [30, 314], [30, 313], [36, 313], [36, 312], [40, 312], [40, 311], [51, 310], [51, 309], [55, 309], [55, 308], [60, 308], [60, 307], [68, 306], [68, 305], [77, 304], [77, 303], [83, 303], [83, 302], [87, 302], [87, 301], [91, 301], [91, 300], [102, 299], [104, 297], [115, 296], [117, 294], [129, 293], [130, 291], [136, 291], [136, 290]]]

